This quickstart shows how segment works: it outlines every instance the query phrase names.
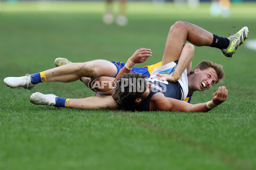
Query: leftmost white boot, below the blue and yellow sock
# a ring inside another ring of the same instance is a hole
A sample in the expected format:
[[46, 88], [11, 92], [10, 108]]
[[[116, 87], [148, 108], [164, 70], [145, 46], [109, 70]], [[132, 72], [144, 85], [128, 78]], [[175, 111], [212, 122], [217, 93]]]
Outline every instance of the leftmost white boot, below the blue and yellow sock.
[[31, 76], [34, 75], [26, 74], [26, 76], [23, 77], [6, 77], [3, 81], [10, 88], [21, 87], [30, 90], [35, 87], [35, 85], [31, 83]]

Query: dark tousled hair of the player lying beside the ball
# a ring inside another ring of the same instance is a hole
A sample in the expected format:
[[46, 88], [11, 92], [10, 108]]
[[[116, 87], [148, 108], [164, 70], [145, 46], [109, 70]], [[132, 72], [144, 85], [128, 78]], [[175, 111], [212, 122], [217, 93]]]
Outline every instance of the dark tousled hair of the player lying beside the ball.
[[[148, 76], [136, 72], [124, 74], [122, 77], [120, 77], [116, 81], [116, 90], [113, 93], [115, 101], [124, 109], [134, 108], [137, 105], [135, 99], [140, 97], [140, 95], [143, 94], [147, 88], [145, 81], [146, 77]], [[139, 78], [143, 79], [143, 81], [139, 81]], [[123, 82], [125, 81], [128, 82], [128, 85], [124, 85]], [[131, 87], [129, 87], [131, 84], [136, 86], [136, 91], [131, 91]], [[137, 91], [138, 89], [141, 91]]]

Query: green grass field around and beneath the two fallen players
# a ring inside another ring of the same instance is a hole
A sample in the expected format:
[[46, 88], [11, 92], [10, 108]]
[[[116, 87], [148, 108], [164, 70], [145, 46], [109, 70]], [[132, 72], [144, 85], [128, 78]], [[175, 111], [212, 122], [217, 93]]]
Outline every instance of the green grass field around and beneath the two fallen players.
[[[223, 37], [248, 26], [248, 40], [256, 38], [256, 3], [232, 4], [229, 18], [211, 17], [209, 6], [130, 2], [129, 24], [119, 27], [102, 23], [103, 2], [53, 2], [41, 11], [39, 3], [1, 2], [0, 170], [255, 170], [256, 51], [245, 45], [232, 59], [216, 48], [195, 47], [193, 66], [207, 59], [226, 72], [220, 85], [229, 91], [227, 101], [208, 113], [47, 109], [32, 105], [29, 96], [94, 93], [80, 81], [43, 83], [31, 91], [6, 88], [3, 82], [53, 68], [57, 57], [125, 62], [145, 47], [153, 52], [145, 65], [154, 64], [178, 20]], [[192, 103], [211, 100], [217, 89], [196, 92]]]

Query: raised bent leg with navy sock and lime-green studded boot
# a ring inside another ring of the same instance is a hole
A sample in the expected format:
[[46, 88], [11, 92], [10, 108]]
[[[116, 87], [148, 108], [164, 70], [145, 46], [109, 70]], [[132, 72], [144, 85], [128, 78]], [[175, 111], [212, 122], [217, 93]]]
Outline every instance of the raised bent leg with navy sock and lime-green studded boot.
[[[236, 49], [247, 39], [248, 28], [243, 27], [230, 37], [218, 37], [209, 31], [185, 21], [177, 21], [171, 28], [166, 40], [163, 65], [179, 59], [186, 41], [196, 46], [211, 46], [222, 50], [226, 57], [232, 57]], [[230, 51], [231, 52], [230, 52]], [[233, 52], [232, 52], [233, 51]]]

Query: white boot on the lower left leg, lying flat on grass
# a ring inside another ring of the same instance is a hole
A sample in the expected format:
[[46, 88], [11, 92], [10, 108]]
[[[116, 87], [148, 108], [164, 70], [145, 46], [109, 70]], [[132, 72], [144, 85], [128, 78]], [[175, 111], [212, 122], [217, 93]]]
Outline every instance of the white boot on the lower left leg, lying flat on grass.
[[54, 94], [42, 94], [35, 92], [29, 97], [29, 101], [35, 105], [46, 105], [49, 107], [56, 104], [56, 97], [58, 96]]

